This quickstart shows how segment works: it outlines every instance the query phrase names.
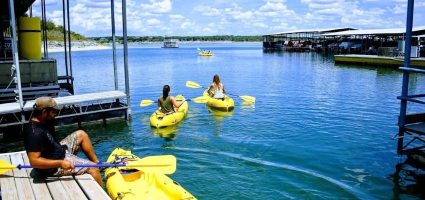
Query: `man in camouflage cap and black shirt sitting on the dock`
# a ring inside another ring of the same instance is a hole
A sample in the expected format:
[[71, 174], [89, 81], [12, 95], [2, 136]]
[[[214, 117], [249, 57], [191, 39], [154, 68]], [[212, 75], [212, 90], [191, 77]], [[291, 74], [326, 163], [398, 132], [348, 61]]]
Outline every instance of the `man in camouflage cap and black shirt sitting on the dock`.
[[[35, 99], [34, 111], [23, 135], [29, 163], [41, 176], [79, 175], [89, 173], [103, 187], [99, 168], [78, 167], [73, 164], [98, 163], [87, 133], [77, 130], [58, 142], [55, 138], [53, 118], [62, 107], [53, 98], [43, 96]], [[51, 126], [49, 126], [51, 124]], [[90, 160], [77, 157], [80, 150]]]

